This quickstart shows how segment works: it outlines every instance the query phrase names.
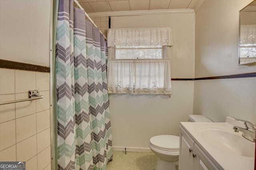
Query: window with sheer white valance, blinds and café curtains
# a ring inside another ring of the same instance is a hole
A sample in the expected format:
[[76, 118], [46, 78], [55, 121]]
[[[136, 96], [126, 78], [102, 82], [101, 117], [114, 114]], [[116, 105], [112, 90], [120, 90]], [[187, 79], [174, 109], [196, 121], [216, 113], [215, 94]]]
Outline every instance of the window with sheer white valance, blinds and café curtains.
[[171, 94], [170, 28], [109, 29], [108, 93]]

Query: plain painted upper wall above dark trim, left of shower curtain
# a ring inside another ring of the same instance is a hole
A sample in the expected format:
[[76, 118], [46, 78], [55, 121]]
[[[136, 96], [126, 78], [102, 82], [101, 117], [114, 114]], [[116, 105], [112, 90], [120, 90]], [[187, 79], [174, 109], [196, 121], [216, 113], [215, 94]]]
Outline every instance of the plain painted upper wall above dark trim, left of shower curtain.
[[50, 0], [0, 0], [0, 59], [49, 66]]

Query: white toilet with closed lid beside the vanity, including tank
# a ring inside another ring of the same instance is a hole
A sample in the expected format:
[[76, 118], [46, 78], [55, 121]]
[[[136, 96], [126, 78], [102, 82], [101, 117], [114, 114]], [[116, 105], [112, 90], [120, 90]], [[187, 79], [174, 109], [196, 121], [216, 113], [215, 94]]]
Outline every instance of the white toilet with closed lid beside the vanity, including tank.
[[[212, 122], [203, 115], [189, 115], [189, 122]], [[158, 135], [150, 138], [149, 148], [158, 156], [156, 170], [178, 170], [180, 137]]]

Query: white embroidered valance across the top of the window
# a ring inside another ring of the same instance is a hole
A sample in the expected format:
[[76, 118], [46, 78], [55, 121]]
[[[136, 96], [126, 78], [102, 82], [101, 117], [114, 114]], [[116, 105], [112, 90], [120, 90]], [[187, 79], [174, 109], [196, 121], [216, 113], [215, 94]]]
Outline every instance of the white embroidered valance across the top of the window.
[[108, 47], [172, 45], [170, 27], [156, 28], [110, 28], [108, 29]]

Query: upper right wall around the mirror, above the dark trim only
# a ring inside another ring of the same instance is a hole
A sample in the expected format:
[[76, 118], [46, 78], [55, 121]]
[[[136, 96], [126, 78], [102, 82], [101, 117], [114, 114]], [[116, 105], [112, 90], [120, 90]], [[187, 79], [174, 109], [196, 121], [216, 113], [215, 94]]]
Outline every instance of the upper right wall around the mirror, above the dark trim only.
[[196, 12], [196, 78], [255, 72], [238, 65], [239, 11], [251, 1], [205, 0]]

